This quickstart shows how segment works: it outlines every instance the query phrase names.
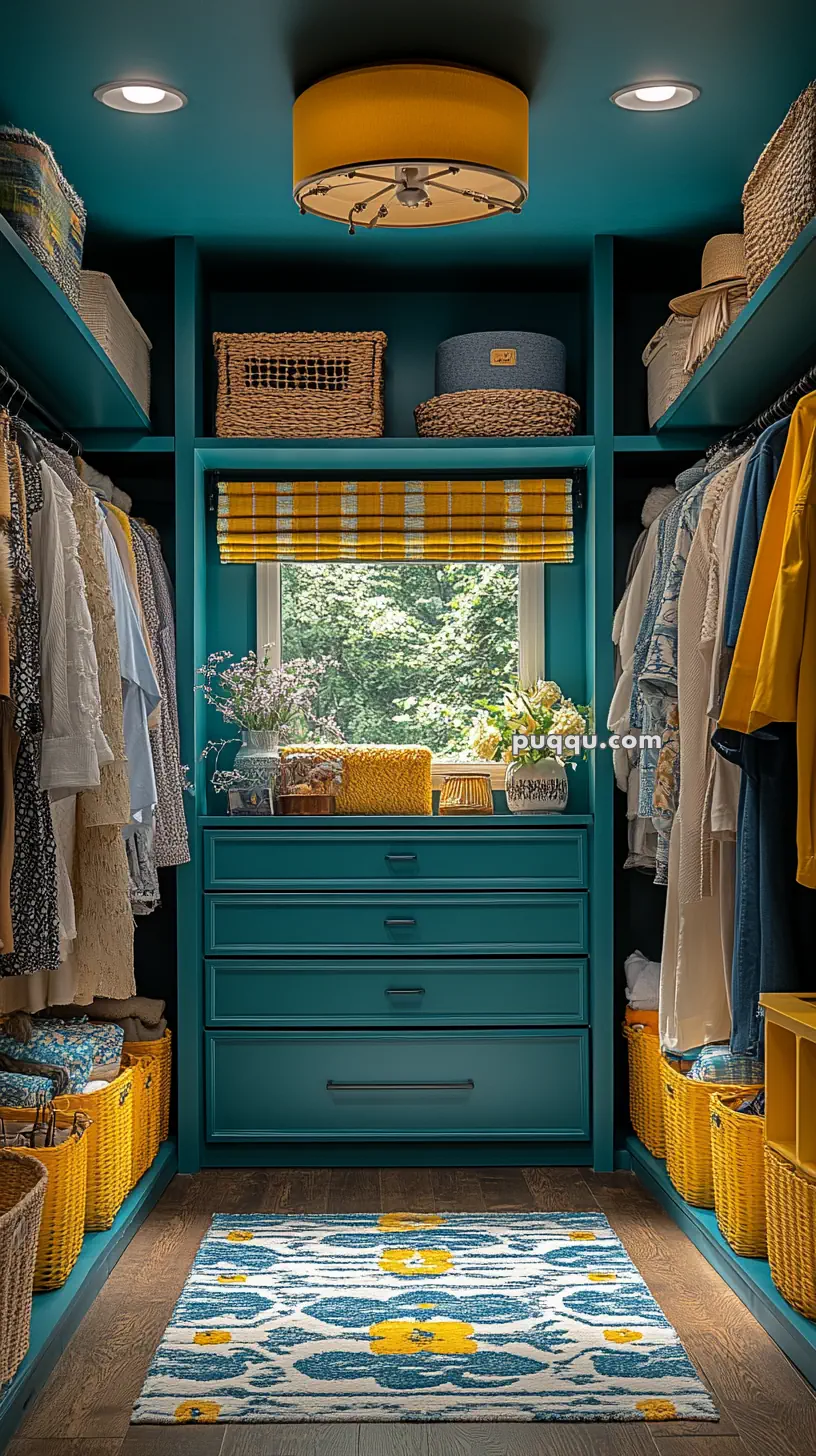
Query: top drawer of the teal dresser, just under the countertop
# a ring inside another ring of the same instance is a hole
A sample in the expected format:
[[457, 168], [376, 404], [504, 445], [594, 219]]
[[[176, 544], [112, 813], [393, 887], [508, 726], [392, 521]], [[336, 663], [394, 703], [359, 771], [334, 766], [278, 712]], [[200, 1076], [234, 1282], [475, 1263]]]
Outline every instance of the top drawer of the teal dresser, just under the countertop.
[[205, 890], [586, 890], [586, 831], [207, 830]]

